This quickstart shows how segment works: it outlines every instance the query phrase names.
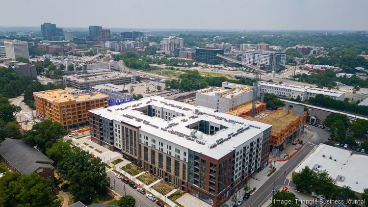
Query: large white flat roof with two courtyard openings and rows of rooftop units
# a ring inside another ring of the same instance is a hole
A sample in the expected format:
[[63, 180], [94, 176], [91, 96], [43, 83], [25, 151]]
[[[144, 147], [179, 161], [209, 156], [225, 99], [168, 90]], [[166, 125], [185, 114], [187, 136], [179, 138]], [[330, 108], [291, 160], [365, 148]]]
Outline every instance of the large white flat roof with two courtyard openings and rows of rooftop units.
[[[172, 110], [183, 114], [183, 116], [176, 116], [166, 121], [156, 116], [150, 117], [144, 115], [141, 111], [135, 110], [136, 108], [148, 105]], [[197, 113], [196, 110], [198, 110]], [[271, 127], [268, 124], [246, 120], [226, 113], [215, 112], [215, 109], [168, 100], [160, 96], [146, 97], [138, 101], [89, 111], [109, 120], [125, 122], [140, 128], [139, 130], [159, 136], [169, 142], [215, 159], [219, 159], [234, 151], [235, 148], [253, 137], [261, 137], [263, 131]], [[193, 129], [189, 129], [187, 126], [202, 120], [222, 125], [226, 129], [221, 129], [213, 135], [198, 131], [200, 134], [202, 133], [202, 138], [191, 138], [190, 134]], [[227, 139], [229, 136], [230, 138]], [[226, 141], [217, 144], [221, 139]]]

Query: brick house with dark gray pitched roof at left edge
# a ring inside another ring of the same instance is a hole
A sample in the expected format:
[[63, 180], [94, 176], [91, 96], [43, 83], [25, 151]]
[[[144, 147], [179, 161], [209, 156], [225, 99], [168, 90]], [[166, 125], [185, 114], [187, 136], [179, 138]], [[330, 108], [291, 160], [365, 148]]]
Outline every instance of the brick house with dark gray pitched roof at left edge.
[[23, 175], [37, 173], [53, 180], [53, 160], [19, 139], [6, 139], [0, 143], [0, 162], [10, 172]]

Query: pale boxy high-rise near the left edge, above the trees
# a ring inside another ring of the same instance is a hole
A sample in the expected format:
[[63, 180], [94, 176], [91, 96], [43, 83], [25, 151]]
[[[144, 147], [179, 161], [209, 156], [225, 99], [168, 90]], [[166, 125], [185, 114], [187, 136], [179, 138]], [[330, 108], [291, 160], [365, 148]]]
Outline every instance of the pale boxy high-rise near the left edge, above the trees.
[[29, 58], [28, 44], [24, 41], [4, 41], [6, 58], [16, 59], [18, 57]]

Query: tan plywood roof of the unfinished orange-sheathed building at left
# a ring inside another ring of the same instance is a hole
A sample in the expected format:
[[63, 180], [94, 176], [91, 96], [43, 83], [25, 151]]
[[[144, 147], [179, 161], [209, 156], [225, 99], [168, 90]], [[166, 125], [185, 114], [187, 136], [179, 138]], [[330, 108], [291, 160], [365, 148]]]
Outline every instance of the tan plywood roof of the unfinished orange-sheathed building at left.
[[84, 101], [89, 101], [89, 100], [94, 100], [94, 99], [107, 98], [105, 94], [102, 94], [99, 92], [72, 95], [62, 89], [34, 92], [33, 95], [39, 98], [42, 98], [42, 99], [47, 99], [50, 102], [56, 102], [56, 103], [62, 103], [62, 102], [68, 102], [68, 101], [84, 102]]

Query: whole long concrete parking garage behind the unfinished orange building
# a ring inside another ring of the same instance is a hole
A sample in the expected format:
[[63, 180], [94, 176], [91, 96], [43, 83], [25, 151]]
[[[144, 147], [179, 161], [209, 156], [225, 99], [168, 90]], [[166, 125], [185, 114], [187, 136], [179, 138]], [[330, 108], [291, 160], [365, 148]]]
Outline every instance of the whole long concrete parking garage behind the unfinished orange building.
[[[89, 87], [106, 83], [112, 83], [115, 85], [135, 83], [136, 77], [134, 75], [126, 75], [118, 72], [91, 73], [88, 74], [87, 76]], [[63, 76], [63, 82], [67, 87], [73, 87], [79, 90], [88, 89], [86, 82], [84, 81], [84, 78], [81, 75]]]

